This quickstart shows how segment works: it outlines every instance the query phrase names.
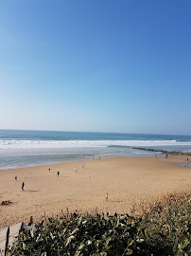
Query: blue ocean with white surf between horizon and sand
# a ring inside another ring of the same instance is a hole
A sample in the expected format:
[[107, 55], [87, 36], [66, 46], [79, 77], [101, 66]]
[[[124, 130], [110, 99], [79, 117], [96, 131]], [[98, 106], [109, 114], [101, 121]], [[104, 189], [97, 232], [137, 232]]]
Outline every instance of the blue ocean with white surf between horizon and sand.
[[0, 130], [0, 170], [155, 154], [133, 147], [191, 153], [191, 136]]

